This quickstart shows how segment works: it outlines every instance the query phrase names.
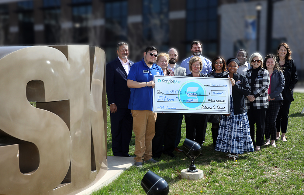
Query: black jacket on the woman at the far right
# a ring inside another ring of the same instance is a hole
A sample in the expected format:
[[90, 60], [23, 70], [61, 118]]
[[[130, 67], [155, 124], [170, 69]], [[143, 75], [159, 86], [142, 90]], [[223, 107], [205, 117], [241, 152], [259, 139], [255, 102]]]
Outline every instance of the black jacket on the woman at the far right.
[[[279, 63], [279, 58], [277, 59]], [[280, 63], [279, 63], [280, 64]], [[297, 70], [295, 68], [295, 61], [286, 60], [284, 67], [282, 67], [283, 75], [285, 78], [285, 85], [282, 91], [282, 96], [284, 100], [293, 102], [293, 88], [295, 88], [295, 83], [298, 82]]]

